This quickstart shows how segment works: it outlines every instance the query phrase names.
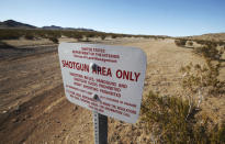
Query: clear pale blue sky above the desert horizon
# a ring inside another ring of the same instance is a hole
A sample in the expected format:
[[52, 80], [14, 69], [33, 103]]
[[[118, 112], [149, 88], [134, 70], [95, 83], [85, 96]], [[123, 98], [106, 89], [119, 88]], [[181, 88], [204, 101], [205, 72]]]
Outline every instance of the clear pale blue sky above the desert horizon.
[[97, 31], [199, 35], [225, 32], [225, 0], [1, 0], [0, 21]]

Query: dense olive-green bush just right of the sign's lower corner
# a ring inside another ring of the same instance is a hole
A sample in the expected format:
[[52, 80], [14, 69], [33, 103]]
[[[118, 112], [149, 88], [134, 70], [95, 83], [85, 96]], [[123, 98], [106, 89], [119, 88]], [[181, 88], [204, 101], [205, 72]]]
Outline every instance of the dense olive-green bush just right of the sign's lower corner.
[[188, 142], [187, 133], [190, 131], [185, 122], [188, 110], [189, 104], [185, 101], [162, 98], [149, 92], [142, 106], [142, 120], [161, 143]]

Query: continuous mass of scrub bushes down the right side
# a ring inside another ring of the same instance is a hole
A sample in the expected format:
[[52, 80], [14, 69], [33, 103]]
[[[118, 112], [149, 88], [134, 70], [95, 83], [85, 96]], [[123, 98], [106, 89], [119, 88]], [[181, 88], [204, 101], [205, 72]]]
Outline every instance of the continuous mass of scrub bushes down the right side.
[[142, 106], [142, 120], [147, 131], [153, 133], [157, 143], [224, 144], [225, 121], [214, 124], [207, 114], [201, 112], [204, 97], [223, 97], [225, 81], [220, 80], [224, 42], [195, 41], [200, 46], [192, 47], [193, 42], [184, 38], [175, 40], [181, 47], [192, 47], [204, 59], [204, 64], [181, 67], [183, 90], [188, 96], [161, 97], [149, 92]]

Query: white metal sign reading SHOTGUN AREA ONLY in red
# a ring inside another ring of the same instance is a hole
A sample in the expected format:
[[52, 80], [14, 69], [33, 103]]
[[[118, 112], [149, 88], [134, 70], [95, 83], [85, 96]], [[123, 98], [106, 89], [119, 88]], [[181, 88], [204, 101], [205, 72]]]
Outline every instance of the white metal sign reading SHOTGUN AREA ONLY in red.
[[136, 122], [146, 71], [142, 49], [61, 43], [58, 54], [69, 101], [121, 121]]

